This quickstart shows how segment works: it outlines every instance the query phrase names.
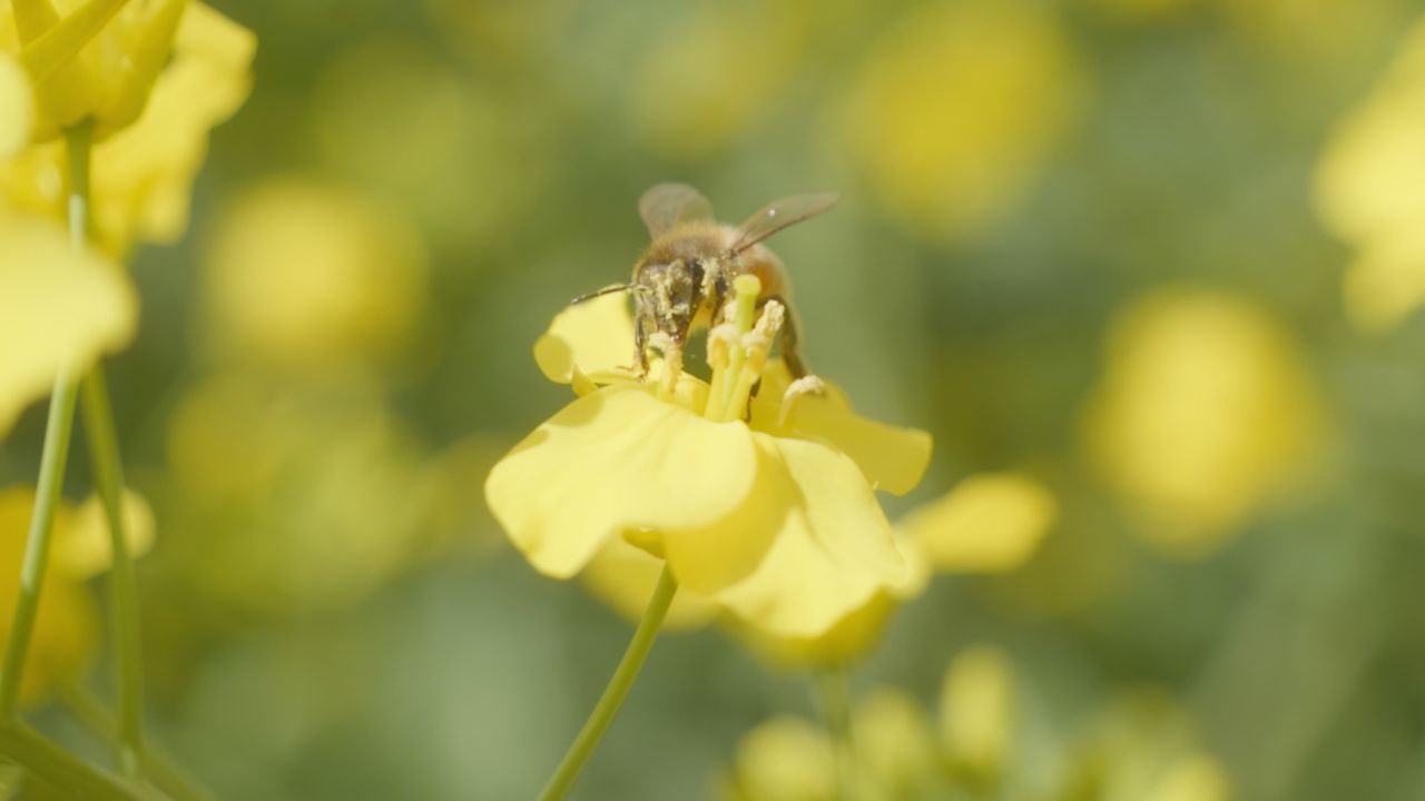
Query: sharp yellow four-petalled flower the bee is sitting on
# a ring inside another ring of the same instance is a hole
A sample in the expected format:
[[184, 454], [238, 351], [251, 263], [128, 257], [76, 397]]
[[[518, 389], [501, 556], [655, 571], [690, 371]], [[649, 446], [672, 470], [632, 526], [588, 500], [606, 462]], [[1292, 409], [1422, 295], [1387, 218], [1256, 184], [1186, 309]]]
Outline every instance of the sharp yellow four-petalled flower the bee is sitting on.
[[[757, 288], [744, 278], [738, 294], [750, 319]], [[627, 312], [620, 319], [614, 311], [623, 298], [591, 302], [607, 308], [560, 315], [549, 336], [563, 345], [546, 338], [536, 346], [546, 375], [581, 378], [584, 395], [517, 445], [486, 482], [492, 512], [537, 570], [574, 576], [623, 537], [665, 559], [688, 591], [792, 637], [825, 631], [906, 579], [872, 487], [913, 486], [929, 459], [929, 436], [862, 420], [831, 393], [788, 393], [771, 422], [755, 410], [751, 423], [737, 419], [751, 383], [768, 376], [762, 361], [775, 304], [757, 329], [720, 332], [734, 342], [757, 339], [738, 375], [725, 368], [735, 362], [710, 359], [722, 371], [710, 386], [663, 375], [661, 366], [650, 383], [638, 383], [620, 376], [617, 362], [586, 358], [613, 355], [614, 341], [624, 342], [627, 358], [633, 343]], [[570, 321], [586, 315], [614, 325], [564, 339]], [[608, 383], [596, 386], [589, 376]], [[764, 385], [764, 403], [767, 393]], [[829, 406], [802, 418], [822, 402]]]

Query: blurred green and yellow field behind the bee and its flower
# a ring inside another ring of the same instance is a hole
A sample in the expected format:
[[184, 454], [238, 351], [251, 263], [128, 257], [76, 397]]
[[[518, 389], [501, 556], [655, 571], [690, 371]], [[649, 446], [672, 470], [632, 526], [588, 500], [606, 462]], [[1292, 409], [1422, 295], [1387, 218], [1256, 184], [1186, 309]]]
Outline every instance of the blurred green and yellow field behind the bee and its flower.
[[[1026, 564], [938, 577], [854, 673], [933, 717], [956, 654], [1012, 666], [1017, 778], [935, 797], [1147, 798], [1063, 778], [1144, 697], [1237, 798], [1425, 795], [1412, 0], [212, 4], [255, 88], [185, 241], [133, 259], [111, 381], [151, 725], [222, 797], [542, 787], [631, 626], [482, 483], [567, 402], [530, 348], [626, 278], [660, 181], [734, 222], [841, 192], [774, 249], [817, 372], [935, 436], [892, 519], [985, 470], [1057, 497]], [[33, 408], [3, 483], [41, 438]], [[802, 674], [668, 633], [577, 797], [717, 797], [785, 714]]]

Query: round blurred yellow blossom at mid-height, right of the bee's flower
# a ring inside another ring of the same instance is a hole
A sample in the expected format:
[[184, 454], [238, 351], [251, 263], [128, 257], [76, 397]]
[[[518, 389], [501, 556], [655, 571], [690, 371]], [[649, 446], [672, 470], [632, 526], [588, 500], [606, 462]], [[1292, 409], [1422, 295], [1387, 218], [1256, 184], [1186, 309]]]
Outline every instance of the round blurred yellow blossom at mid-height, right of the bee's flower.
[[1244, 298], [1143, 296], [1113, 321], [1104, 359], [1084, 445], [1171, 553], [1221, 544], [1321, 450], [1322, 400], [1297, 343]]

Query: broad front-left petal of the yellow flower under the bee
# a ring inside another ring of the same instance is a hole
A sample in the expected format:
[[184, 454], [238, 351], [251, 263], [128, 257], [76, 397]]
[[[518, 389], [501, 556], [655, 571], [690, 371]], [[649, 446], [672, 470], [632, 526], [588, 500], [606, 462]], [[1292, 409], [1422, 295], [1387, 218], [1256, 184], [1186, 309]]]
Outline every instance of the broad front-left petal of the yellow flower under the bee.
[[610, 386], [534, 429], [490, 472], [484, 496], [530, 563], [566, 579], [617, 532], [727, 517], [755, 465], [741, 423], [704, 420], [643, 386]]

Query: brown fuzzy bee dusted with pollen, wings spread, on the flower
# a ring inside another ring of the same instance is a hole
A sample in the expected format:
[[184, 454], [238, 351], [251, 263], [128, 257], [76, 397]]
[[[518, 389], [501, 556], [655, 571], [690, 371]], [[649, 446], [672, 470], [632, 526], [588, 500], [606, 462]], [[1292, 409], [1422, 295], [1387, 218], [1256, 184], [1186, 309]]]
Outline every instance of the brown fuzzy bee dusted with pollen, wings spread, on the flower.
[[791, 306], [791, 282], [781, 259], [762, 241], [835, 204], [835, 194], [794, 195], [762, 207], [734, 228], [718, 222], [712, 204], [693, 187], [658, 184], [638, 200], [638, 214], [653, 242], [634, 264], [633, 279], [573, 302], [630, 292], [636, 358], [640, 375], [647, 375], [648, 348], [656, 332], [683, 346], [693, 332], [722, 322], [732, 279], [752, 274], [762, 285], [758, 308], [778, 301], [787, 309], [781, 329], [782, 362], [792, 378], [802, 378], [808, 369]]

